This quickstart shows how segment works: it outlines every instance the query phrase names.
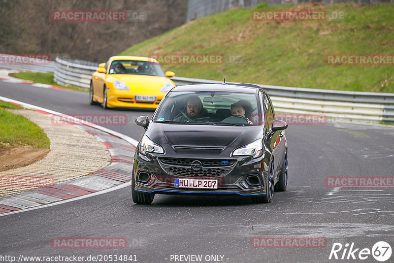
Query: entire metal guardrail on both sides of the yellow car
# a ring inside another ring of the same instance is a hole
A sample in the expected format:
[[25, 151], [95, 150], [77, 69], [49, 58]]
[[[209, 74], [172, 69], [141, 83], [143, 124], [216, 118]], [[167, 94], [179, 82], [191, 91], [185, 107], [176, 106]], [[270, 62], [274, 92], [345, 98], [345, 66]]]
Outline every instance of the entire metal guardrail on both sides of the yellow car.
[[[65, 86], [77, 86], [89, 89], [93, 72], [98, 64], [86, 61], [56, 59], [49, 63], [53, 70], [34, 67], [16, 66], [15, 69], [35, 71], [54, 71], [54, 80]], [[222, 81], [172, 77], [176, 85], [198, 83], [222, 83]], [[259, 85], [259, 84], [257, 84]], [[379, 123], [385, 121], [394, 124], [394, 94], [347, 92], [295, 87], [259, 85], [271, 96], [277, 112], [289, 114], [323, 113], [336, 121], [357, 121]]]

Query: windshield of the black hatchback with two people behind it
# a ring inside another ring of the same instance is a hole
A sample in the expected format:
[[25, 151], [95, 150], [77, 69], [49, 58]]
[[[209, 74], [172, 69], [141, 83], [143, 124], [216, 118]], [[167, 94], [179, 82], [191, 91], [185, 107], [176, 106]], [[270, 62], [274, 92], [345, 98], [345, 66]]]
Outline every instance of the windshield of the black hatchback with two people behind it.
[[262, 125], [257, 94], [237, 92], [170, 92], [154, 122], [249, 126]]

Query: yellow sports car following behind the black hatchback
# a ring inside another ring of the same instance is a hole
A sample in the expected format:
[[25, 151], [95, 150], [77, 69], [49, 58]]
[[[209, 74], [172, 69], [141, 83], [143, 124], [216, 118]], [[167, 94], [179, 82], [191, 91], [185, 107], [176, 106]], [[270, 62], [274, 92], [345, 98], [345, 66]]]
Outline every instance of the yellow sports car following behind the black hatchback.
[[135, 107], [155, 109], [165, 93], [175, 86], [155, 59], [114, 56], [101, 63], [92, 75], [89, 103], [104, 109]]

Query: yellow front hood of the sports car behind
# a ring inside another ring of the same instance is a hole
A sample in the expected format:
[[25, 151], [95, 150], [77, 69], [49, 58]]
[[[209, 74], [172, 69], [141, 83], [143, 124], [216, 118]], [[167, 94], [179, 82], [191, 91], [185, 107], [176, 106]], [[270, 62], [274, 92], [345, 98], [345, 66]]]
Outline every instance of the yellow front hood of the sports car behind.
[[[145, 91], [160, 91], [160, 88], [164, 86], [164, 84], [169, 83], [172, 86], [175, 84], [172, 80], [166, 77], [157, 77], [157, 76], [147, 76], [147, 75], [112, 75], [113, 81], [116, 79], [121, 80], [125, 85], [129, 86], [131, 89], [143, 89]], [[171, 87], [172, 88], [172, 87]], [[167, 88], [168, 89], [168, 88]], [[168, 90], [162, 91], [167, 92]]]

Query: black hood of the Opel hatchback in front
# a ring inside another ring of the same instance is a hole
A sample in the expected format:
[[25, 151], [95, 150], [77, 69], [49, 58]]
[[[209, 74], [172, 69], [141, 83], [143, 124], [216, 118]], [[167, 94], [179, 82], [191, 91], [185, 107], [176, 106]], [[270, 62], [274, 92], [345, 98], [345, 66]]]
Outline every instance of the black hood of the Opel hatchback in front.
[[145, 133], [159, 144], [182, 147], [243, 146], [263, 138], [261, 126], [219, 126], [150, 123]]

